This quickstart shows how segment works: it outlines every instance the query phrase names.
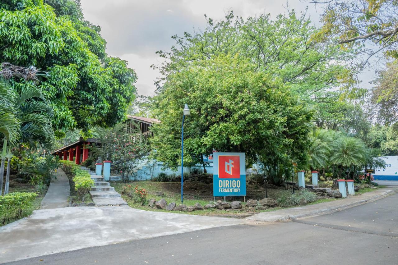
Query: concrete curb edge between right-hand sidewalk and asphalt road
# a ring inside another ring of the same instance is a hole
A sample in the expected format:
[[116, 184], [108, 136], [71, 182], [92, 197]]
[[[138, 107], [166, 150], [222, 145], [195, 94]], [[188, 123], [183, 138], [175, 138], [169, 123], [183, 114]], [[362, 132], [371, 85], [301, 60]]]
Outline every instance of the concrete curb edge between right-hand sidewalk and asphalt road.
[[[398, 193], [398, 188], [397, 189], [390, 189], [388, 191], [385, 191], [383, 193], [380, 193], [378, 195], [369, 197], [367, 199], [363, 199], [360, 201], [355, 201], [352, 203], [345, 203], [342, 205], [336, 205], [333, 207], [328, 207], [328, 208], [323, 208], [323, 209], [317, 209], [317, 210], [310, 210], [308, 212], [305, 213], [300, 213], [300, 214], [287, 214], [287, 215], [281, 215], [280, 217], [274, 217], [274, 218], [270, 218], [269, 220], [256, 220], [256, 214], [254, 214], [253, 216], [251, 216], [252, 218], [246, 218], [248, 220], [255, 220], [255, 221], [263, 221], [263, 222], [277, 222], [277, 221], [288, 221], [288, 220], [292, 220], [292, 219], [298, 219], [298, 218], [304, 218], [304, 217], [313, 217], [313, 216], [317, 216], [317, 215], [321, 215], [321, 214], [326, 214], [326, 213], [331, 213], [331, 212], [337, 212], [339, 210], [345, 210], [348, 208], [352, 208], [358, 205], [362, 205], [365, 203], [369, 203], [372, 201], [377, 201], [378, 199], [382, 199], [384, 197], [393, 195]], [[271, 217], [271, 216], [270, 216]]]

